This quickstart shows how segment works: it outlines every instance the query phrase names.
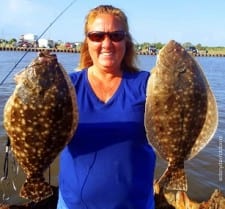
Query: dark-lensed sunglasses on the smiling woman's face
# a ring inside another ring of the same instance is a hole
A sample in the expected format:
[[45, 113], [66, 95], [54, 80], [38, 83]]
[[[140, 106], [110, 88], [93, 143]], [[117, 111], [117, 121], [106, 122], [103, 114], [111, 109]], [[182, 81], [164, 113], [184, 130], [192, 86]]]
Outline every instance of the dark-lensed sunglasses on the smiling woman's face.
[[109, 39], [113, 42], [122, 41], [127, 33], [125, 31], [113, 31], [113, 32], [103, 32], [103, 31], [93, 31], [87, 34], [87, 37], [91, 41], [101, 42], [105, 39], [105, 36], [108, 36]]

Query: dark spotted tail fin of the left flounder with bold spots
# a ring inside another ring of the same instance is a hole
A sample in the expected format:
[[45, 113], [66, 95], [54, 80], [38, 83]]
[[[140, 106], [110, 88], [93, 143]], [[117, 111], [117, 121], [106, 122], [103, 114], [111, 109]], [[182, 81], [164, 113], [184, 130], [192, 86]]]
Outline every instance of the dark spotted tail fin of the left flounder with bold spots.
[[37, 203], [53, 195], [52, 187], [44, 178], [27, 178], [20, 190], [20, 196]]

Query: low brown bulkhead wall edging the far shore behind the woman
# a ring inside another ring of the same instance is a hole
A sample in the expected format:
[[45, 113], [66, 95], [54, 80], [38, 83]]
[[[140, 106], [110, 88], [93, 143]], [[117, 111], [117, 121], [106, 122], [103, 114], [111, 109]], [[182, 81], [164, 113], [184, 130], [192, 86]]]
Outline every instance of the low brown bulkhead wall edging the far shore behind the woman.
[[[57, 49], [57, 48], [33, 48], [33, 47], [0, 47], [0, 51], [31, 51], [31, 52], [41, 52], [48, 50], [50, 52], [60, 52], [60, 53], [80, 53], [80, 51], [73, 49], [73, 48], [64, 48], [64, 49]], [[157, 55], [157, 53], [150, 53], [150, 52], [137, 52], [138, 55]], [[197, 53], [192, 54], [193, 56], [197, 57], [225, 57], [225, 54], [221, 53]]]

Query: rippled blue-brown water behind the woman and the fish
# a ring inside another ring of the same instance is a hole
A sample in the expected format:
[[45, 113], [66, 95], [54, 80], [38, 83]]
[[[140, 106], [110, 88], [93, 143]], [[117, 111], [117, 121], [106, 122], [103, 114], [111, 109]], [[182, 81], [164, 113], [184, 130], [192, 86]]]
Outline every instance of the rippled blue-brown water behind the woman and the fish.
[[[15, 66], [17, 61], [24, 55], [24, 52], [1, 52], [0, 51], [0, 81]], [[28, 53], [22, 62], [16, 67], [12, 75], [0, 86], [0, 178], [3, 176], [3, 161], [5, 150], [5, 132], [2, 126], [3, 107], [6, 100], [12, 93], [15, 84], [13, 74], [20, 71], [36, 56], [36, 53]], [[78, 63], [79, 54], [58, 53], [58, 60], [64, 68], [71, 72]], [[139, 66], [143, 70], [149, 71], [155, 64], [155, 56], [139, 56]], [[202, 201], [210, 197], [214, 189], [219, 188], [225, 193], [225, 58], [221, 57], [196, 57], [203, 67], [209, 84], [216, 96], [219, 109], [219, 126], [210, 143], [194, 159], [185, 163], [185, 170], [188, 176], [189, 197]], [[57, 185], [58, 161], [51, 166], [51, 184]], [[22, 199], [18, 197], [24, 175], [19, 170], [19, 175], [13, 172], [13, 159], [10, 158], [9, 178], [13, 181], [0, 182], [0, 203], [20, 203]], [[166, 163], [158, 158], [156, 168], [156, 178], [159, 177], [166, 168]], [[49, 173], [46, 172], [46, 178]], [[14, 186], [15, 185], [15, 186]], [[17, 188], [15, 191], [14, 187]], [[3, 193], [6, 194], [4, 200]], [[7, 200], [7, 196], [10, 198]]]

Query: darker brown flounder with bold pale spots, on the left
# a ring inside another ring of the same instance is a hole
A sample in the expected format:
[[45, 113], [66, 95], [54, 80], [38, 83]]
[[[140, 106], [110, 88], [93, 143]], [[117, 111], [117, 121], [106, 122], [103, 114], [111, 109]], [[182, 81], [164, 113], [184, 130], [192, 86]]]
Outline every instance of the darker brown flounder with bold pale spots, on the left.
[[56, 56], [48, 52], [41, 52], [15, 80], [4, 108], [4, 127], [26, 174], [20, 196], [39, 202], [53, 194], [43, 172], [76, 130], [76, 94]]

